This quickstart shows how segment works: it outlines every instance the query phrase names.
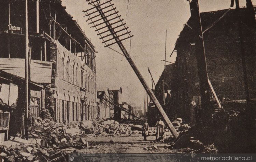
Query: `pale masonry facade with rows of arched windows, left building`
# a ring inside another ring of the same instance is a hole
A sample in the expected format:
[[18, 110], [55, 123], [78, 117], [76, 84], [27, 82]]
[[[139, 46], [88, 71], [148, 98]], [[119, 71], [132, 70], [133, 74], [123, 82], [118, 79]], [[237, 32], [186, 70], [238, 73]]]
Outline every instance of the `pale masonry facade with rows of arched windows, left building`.
[[[48, 85], [45, 93], [46, 106], [55, 116], [55, 121], [72, 122], [96, 118], [96, 74], [81, 61], [81, 58], [58, 41], [51, 42], [50, 54], [53, 62], [52, 83]], [[82, 113], [85, 116], [82, 116]]]

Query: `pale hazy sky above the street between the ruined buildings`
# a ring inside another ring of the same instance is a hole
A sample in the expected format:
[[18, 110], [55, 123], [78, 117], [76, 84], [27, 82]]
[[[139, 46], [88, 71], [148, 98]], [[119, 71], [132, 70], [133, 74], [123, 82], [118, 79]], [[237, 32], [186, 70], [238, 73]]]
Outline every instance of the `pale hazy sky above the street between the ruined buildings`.
[[[199, 0], [200, 12], [230, 8], [231, 0]], [[256, 4], [256, 0], [252, 0]], [[167, 61], [174, 62], [176, 54], [170, 58], [174, 43], [190, 17], [187, 0], [112, 0], [122, 15], [126, 26], [134, 36], [131, 40], [130, 56], [137, 65], [147, 84], [151, 87], [150, 68], [155, 83], [163, 69], [165, 59], [165, 31], [167, 30]], [[169, 3], [169, 4], [168, 4]], [[99, 36], [87, 24], [82, 10], [91, 8], [86, 0], [62, 0], [67, 12], [78, 21], [87, 37], [96, 47], [97, 90], [123, 89], [123, 101], [144, 105], [145, 90], [126, 58], [115, 51], [104, 48]], [[167, 5], [168, 4], [168, 5]], [[240, 6], [245, 0], [240, 0]], [[127, 11], [127, 12], [126, 12]], [[130, 40], [123, 41], [129, 51]], [[120, 51], [117, 46], [112, 48]], [[121, 51], [120, 51], [121, 52]]]

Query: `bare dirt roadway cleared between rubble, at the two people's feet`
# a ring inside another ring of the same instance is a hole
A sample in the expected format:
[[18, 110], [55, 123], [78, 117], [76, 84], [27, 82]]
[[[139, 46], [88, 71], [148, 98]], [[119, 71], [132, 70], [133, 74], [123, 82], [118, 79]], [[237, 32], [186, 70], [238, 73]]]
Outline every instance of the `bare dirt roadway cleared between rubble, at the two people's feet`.
[[[167, 132], [167, 137], [170, 132]], [[132, 136], [88, 137], [89, 144], [96, 148], [76, 150], [77, 153], [176, 153], [177, 150], [169, 149], [170, 144], [155, 142], [155, 136], [148, 136], [148, 141], [143, 141], [141, 134]], [[70, 148], [69, 148], [70, 149]], [[69, 150], [67, 149], [67, 150]], [[65, 151], [65, 149], [63, 150]], [[72, 153], [67, 151], [67, 153]]]

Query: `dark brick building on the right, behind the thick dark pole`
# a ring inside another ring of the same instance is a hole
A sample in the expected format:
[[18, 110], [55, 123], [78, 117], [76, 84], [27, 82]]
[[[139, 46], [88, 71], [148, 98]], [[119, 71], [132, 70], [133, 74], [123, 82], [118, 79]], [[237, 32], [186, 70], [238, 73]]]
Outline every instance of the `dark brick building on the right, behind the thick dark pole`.
[[[246, 78], [236, 10], [200, 13], [208, 76], [219, 99], [245, 100], [245, 82], [248, 83], [250, 99], [256, 98], [256, 32], [248, 19], [248, 9], [241, 8], [239, 11], [242, 19], [241, 33], [244, 37], [242, 50]], [[164, 78], [163, 72], [155, 91], [171, 119], [181, 117], [191, 124], [195, 124], [195, 104], [201, 104], [193, 28], [194, 20], [190, 17], [175, 44], [176, 62], [166, 65], [166, 77]], [[225, 103], [223, 107], [225, 108]]]

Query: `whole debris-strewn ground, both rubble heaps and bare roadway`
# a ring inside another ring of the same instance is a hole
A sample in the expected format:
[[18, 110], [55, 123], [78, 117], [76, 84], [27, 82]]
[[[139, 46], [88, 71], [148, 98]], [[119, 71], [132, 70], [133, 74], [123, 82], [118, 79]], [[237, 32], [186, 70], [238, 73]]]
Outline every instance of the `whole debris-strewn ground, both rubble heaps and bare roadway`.
[[[191, 139], [194, 148], [174, 149], [173, 137], [166, 130], [167, 139], [155, 142], [156, 128], [149, 128], [148, 141], [142, 141], [141, 123], [117, 122], [114, 120], [95, 120], [77, 123], [55, 123], [49, 119], [38, 118], [35, 126], [29, 129], [29, 140], [20, 134], [11, 136], [1, 144], [3, 162], [21, 161], [65, 161], [67, 153], [181, 153], [209, 152], [202, 143]], [[175, 129], [186, 132], [188, 124], [173, 122]], [[211, 146], [216, 152], [214, 146]], [[1, 161], [1, 162], [2, 162]]]

